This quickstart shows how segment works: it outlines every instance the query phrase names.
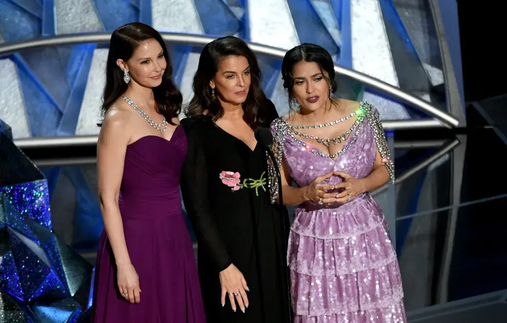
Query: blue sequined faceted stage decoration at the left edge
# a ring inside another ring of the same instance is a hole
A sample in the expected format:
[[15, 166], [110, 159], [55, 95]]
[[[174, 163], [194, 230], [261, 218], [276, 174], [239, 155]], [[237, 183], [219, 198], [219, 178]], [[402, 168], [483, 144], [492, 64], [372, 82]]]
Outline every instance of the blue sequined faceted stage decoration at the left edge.
[[53, 233], [48, 183], [0, 121], [0, 323], [71, 323], [93, 267]]

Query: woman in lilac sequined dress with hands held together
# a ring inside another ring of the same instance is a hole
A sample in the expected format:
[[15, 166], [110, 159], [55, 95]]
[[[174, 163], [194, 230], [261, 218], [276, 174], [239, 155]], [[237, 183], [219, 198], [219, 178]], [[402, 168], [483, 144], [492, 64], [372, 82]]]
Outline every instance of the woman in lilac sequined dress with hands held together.
[[294, 322], [405, 323], [396, 253], [368, 194], [394, 181], [378, 112], [332, 98], [333, 61], [317, 45], [288, 51], [282, 75], [299, 103], [271, 127], [283, 201], [298, 205], [287, 256]]

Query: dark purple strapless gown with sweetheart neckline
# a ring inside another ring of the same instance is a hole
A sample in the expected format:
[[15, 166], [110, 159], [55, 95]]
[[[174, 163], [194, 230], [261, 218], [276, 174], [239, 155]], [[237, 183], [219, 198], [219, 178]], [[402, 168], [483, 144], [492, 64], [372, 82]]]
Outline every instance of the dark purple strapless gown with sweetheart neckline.
[[179, 179], [187, 143], [180, 128], [170, 141], [149, 135], [126, 149], [119, 207], [141, 302], [130, 304], [119, 294], [114, 256], [103, 230], [92, 323], [206, 321], [192, 241], [181, 213]]

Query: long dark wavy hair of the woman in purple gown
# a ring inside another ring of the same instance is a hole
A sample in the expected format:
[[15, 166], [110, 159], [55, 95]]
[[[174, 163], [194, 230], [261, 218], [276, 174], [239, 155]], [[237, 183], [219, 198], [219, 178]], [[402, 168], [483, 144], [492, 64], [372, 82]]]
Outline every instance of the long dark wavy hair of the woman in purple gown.
[[109, 44], [108, 61], [105, 66], [105, 87], [103, 104], [101, 107], [102, 118], [108, 109], [118, 98], [125, 93], [128, 84], [123, 81], [123, 71], [116, 64], [118, 59], [129, 60], [139, 45], [146, 40], [155, 39], [162, 47], [167, 67], [162, 75], [162, 83], [153, 88], [153, 95], [157, 103], [157, 111], [165, 117], [168, 123], [178, 117], [181, 111], [183, 96], [173, 81], [173, 66], [171, 56], [162, 36], [152, 27], [141, 22], [132, 22], [116, 29], [111, 35]]

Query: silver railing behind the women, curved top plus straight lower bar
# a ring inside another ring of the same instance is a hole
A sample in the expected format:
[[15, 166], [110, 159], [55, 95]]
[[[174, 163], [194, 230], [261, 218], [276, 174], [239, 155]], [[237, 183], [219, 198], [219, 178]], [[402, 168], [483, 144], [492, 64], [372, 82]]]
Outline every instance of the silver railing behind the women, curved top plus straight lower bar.
[[[186, 33], [161, 33], [167, 42], [185, 43], [189, 45], [204, 46], [216, 37]], [[30, 50], [40, 47], [52, 47], [58, 45], [81, 44], [81, 43], [107, 43], [111, 38], [111, 33], [84, 33], [72, 35], [58, 35], [30, 39], [20, 42], [10, 42], [0, 44], [0, 55], [6, 55], [14, 52]], [[286, 53], [285, 50], [261, 45], [257, 43], [248, 43], [250, 48], [257, 54], [264, 54], [282, 59]], [[421, 100], [411, 94], [408, 94], [399, 88], [386, 82], [375, 79], [366, 74], [350, 70], [343, 66], [334, 65], [337, 74], [348, 77], [352, 80], [376, 89], [381, 93], [388, 94], [399, 101], [405, 102], [415, 108], [424, 111], [435, 119], [427, 120], [394, 120], [383, 121], [384, 128], [387, 130], [395, 129], [414, 129], [414, 128], [432, 128], [448, 127], [454, 128], [459, 124], [459, 120], [447, 111], [441, 110], [428, 102]], [[96, 142], [97, 136], [76, 136], [76, 137], [54, 137], [54, 138], [27, 138], [15, 140], [18, 147], [41, 147], [41, 146], [63, 146], [63, 145], [86, 145]]]

